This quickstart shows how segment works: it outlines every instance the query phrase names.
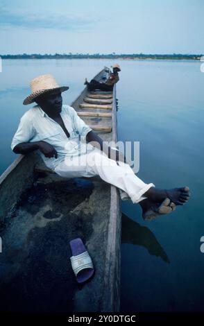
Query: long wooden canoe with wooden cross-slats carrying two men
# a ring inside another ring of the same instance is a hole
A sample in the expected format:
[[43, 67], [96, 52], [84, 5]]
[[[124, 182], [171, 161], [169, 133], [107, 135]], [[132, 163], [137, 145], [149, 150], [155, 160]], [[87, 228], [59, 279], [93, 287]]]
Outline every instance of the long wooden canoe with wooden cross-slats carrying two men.
[[[104, 74], [103, 69], [96, 80]], [[83, 98], [97, 94], [104, 93], [90, 94], [85, 87], [71, 106], [105, 141], [117, 141], [115, 86], [107, 94], [112, 110], [81, 108]], [[119, 311], [119, 191], [100, 178], [65, 179], [50, 172], [34, 152], [19, 155], [0, 176], [0, 310]], [[69, 241], [76, 237], [95, 266], [83, 285], [69, 260]]]

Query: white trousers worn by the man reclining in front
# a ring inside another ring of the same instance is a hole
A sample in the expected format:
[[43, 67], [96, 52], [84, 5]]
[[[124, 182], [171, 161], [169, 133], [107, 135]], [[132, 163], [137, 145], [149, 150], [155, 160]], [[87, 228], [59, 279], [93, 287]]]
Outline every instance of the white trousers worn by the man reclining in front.
[[124, 162], [118, 162], [118, 164], [116, 161], [109, 159], [105, 153], [94, 148], [94, 150], [84, 155], [65, 157], [65, 160], [56, 166], [55, 172], [64, 178], [93, 177], [99, 175], [105, 182], [114, 185], [128, 194], [133, 203], [139, 203], [139, 201], [145, 198], [142, 195], [149, 188], [155, 186], [153, 183], [147, 185], [137, 178], [137, 175], [135, 175], [128, 164]]

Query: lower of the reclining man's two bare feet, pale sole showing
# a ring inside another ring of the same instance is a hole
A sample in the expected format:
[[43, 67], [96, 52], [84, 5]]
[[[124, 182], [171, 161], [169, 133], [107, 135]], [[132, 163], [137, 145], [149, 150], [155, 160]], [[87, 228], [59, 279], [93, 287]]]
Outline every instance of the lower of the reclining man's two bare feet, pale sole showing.
[[157, 216], [169, 214], [176, 209], [176, 205], [171, 203], [169, 198], [165, 198], [162, 203], [156, 203], [148, 198], [139, 202], [142, 207], [142, 217], [144, 221], [151, 221]]

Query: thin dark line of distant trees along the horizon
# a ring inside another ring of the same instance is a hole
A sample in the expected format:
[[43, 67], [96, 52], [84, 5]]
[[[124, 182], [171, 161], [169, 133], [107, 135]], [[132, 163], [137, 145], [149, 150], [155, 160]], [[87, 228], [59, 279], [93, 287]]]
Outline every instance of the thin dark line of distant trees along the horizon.
[[151, 59], [151, 60], [200, 60], [202, 54], [101, 54], [101, 53], [56, 53], [56, 54], [6, 54], [0, 55], [2, 59]]

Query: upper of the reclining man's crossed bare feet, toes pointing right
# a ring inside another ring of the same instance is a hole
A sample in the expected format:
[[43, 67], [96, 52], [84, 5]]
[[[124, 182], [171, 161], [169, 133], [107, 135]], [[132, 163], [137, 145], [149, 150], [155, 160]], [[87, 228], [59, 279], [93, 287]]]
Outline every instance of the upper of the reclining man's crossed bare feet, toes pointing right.
[[189, 187], [173, 189], [158, 189], [151, 187], [146, 191], [144, 196], [159, 203], [165, 198], [169, 198], [175, 205], [183, 205], [189, 200]]

